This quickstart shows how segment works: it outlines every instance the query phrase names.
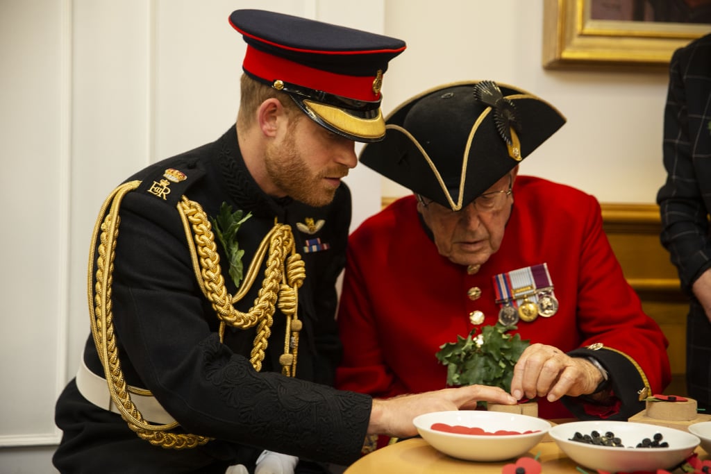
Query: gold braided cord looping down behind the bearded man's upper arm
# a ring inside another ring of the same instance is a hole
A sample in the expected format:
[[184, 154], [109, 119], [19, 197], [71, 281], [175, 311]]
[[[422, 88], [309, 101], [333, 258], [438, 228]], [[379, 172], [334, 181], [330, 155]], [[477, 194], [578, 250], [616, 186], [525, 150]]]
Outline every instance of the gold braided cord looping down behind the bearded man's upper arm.
[[[114, 257], [116, 241], [119, 233], [119, 206], [124, 196], [136, 189], [140, 181], [131, 181], [116, 188], [105, 200], [100, 210], [92, 233], [91, 249], [97, 249], [96, 285], [92, 291], [92, 276], [94, 255], [90, 255], [87, 296], [89, 299], [89, 313], [92, 336], [99, 354], [99, 359], [104, 368], [109, 394], [114, 404], [119, 409], [122, 419], [137, 435], [151, 444], [163, 448], [183, 449], [194, 448], [210, 441], [211, 438], [186, 433], [171, 433], [169, 430], [178, 426], [177, 423], [155, 425], [146, 422], [141, 412], [131, 400], [131, 392], [150, 394], [145, 389], [131, 389], [124, 379], [119, 361], [119, 353], [114, 337], [112, 313], [112, 275], [114, 270]], [[107, 213], [107, 208], [110, 210]], [[101, 233], [100, 233], [101, 232]], [[99, 237], [100, 235], [100, 237]], [[97, 239], [100, 244], [96, 247]]]

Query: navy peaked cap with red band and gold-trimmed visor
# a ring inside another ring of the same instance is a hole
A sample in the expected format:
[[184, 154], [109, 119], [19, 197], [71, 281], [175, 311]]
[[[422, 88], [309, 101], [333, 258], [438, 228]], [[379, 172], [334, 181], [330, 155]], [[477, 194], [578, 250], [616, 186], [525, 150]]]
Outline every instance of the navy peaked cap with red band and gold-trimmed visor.
[[355, 141], [385, 136], [380, 87], [387, 63], [405, 50], [397, 38], [264, 10], [236, 10], [242, 69], [282, 90], [314, 122]]

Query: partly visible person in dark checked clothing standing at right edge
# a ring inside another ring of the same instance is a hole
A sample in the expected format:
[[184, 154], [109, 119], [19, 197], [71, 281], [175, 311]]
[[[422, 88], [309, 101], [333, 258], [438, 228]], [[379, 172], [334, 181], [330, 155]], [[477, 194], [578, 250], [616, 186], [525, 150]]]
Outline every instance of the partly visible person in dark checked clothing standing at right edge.
[[711, 409], [711, 34], [675, 51], [664, 110], [664, 168], [657, 194], [661, 242], [690, 296], [688, 395]]

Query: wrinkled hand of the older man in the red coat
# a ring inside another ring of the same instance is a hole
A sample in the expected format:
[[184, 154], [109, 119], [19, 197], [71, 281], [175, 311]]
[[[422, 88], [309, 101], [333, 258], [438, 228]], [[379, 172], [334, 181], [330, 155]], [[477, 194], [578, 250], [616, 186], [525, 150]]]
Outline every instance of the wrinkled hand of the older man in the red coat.
[[511, 379], [515, 399], [546, 397], [555, 402], [563, 395], [591, 394], [602, 374], [584, 357], [570, 357], [552, 345], [532, 344], [521, 354]]

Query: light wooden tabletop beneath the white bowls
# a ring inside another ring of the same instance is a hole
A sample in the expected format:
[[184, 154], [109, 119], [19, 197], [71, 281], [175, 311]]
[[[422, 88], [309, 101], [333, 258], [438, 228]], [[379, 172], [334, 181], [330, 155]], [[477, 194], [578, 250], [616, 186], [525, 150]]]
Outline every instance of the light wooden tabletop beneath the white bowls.
[[[709, 456], [702, 448], [697, 448], [701, 459]], [[555, 441], [542, 441], [534, 446], [528, 456], [538, 455], [542, 473], [576, 473], [577, 464], [560, 451]], [[506, 460], [496, 463], [476, 463], [474, 461], [459, 460], [442, 454], [429, 446], [422, 438], [411, 438], [400, 443], [391, 444], [380, 448], [373, 453], [363, 456], [353, 463], [344, 474], [501, 474], [504, 465], [514, 463], [515, 460]], [[597, 471], [585, 469], [589, 474]]]

